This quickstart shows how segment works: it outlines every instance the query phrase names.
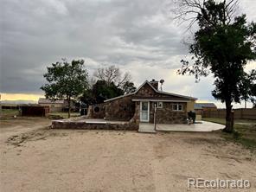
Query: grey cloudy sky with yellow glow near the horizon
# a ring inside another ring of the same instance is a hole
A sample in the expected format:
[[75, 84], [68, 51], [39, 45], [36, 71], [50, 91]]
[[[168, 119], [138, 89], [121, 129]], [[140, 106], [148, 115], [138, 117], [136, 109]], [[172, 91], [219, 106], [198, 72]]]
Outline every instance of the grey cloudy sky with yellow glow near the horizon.
[[[172, 20], [170, 2], [0, 0], [0, 92], [4, 99], [36, 98], [43, 94], [47, 66], [83, 58], [89, 74], [114, 64], [130, 72], [137, 86], [164, 79], [164, 91], [214, 100], [212, 77], [195, 83], [194, 77], [176, 74], [188, 53], [182, 42], [190, 34]], [[255, 10], [255, 0], [240, 0], [249, 21], [256, 21]], [[253, 67], [255, 62], [247, 70]]]

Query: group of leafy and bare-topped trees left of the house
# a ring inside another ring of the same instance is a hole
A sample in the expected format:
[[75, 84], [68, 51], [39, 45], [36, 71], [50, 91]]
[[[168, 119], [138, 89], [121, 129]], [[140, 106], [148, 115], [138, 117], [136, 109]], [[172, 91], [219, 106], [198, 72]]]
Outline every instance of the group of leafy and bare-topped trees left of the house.
[[84, 60], [68, 62], [63, 59], [52, 63], [51, 67], [47, 67], [47, 71], [43, 75], [47, 83], [41, 89], [48, 99], [67, 99], [68, 118], [72, 99], [89, 106], [136, 90], [131, 82], [131, 74], [123, 74], [113, 65], [98, 68], [91, 79]]

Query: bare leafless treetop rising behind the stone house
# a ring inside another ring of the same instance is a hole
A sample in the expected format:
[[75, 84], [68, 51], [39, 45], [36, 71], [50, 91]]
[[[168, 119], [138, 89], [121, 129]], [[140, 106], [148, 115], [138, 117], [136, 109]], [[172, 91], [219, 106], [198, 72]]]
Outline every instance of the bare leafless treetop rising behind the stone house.
[[97, 71], [94, 72], [94, 76], [99, 80], [105, 80], [107, 85], [113, 82], [118, 88], [123, 88], [127, 81], [131, 81], [131, 74], [126, 72], [122, 75], [120, 69], [115, 66], [98, 68]]

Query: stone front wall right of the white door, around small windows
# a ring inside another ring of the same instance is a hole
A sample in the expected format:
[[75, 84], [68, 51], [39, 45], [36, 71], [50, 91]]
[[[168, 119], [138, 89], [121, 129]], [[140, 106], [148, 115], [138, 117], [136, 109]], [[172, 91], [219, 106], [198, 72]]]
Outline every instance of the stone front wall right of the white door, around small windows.
[[[186, 124], [187, 103], [182, 103], [183, 111], [172, 111], [172, 105], [176, 103], [163, 102], [163, 108], [157, 108], [157, 124]], [[150, 119], [151, 120], [151, 119]]]

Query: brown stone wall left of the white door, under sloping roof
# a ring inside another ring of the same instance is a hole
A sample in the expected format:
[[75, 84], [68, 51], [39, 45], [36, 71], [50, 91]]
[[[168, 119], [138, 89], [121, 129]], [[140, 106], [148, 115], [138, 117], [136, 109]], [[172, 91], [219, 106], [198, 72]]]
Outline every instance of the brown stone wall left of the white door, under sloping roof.
[[135, 112], [135, 103], [131, 99], [132, 96], [127, 96], [106, 102], [106, 120], [129, 121]]

